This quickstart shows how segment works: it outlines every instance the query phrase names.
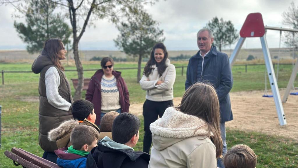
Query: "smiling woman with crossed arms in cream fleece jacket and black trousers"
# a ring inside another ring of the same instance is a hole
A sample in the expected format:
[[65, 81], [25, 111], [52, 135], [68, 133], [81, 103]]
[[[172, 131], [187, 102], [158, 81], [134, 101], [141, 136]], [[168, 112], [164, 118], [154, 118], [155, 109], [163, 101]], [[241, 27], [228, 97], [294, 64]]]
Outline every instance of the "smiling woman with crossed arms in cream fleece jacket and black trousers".
[[140, 80], [141, 88], [147, 91], [143, 105], [145, 130], [143, 151], [147, 153], [149, 153], [152, 142], [150, 124], [157, 120], [158, 116], [162, 117], [167, 107], [173, 106], [176, 69], [167, 57], [167, 48], [163, 43], [157, 43], [151, 51], [150, 59]]

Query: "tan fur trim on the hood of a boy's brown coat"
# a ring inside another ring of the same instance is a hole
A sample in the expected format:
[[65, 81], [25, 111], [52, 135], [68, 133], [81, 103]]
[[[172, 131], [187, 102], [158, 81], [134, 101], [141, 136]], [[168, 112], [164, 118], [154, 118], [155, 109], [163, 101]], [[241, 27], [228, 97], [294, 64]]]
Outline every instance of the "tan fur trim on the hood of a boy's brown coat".
[[71, 120], [64, 121], [63, 123], [60, 124], [60, 126], [49, 131], [48, 139], [50, 141], [56, 141], [62, 138], [64, 135], [71, 132], [72, 129], [78, 125], [79, 125], [78, 120], [71, 119]]

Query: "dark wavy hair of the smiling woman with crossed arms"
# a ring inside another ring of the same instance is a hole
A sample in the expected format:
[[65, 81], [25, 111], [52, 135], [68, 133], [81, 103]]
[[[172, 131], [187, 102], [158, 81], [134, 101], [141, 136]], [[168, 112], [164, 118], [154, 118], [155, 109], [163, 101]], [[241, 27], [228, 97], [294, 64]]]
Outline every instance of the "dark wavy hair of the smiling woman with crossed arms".
[[[162, 51], [164, 52], [164, 59], [162, 60], [162, 62], [160, 63], [157, 63], [155, 61], [155, 58], [154, 58], [154, 51], [155, 49], [157, 48], [160, 48], [162, 49]], [[155, 65], [157, 66], [157, 70], [158, 70], [158, 74], [159, 76], [162, 76], [162, 73], [164, 73], [164, 71], [166, 70], [167, 66], [166, 66], [166, 60], [167, 60], [167, 57], [168, 57], [168, 52], [167, 52], [167, 48], [166, 46], [160, 42], [160, 43], [157, 43], [156, 45], [154, 45], [152, 51], [151, 51], [151, 54], [150, 54], [150, 59], [148, 60], [145, 68], [144, 68], [144, 72], [143, 74], [148, 77], [149, 74], [151, 74], [153, 68], [151, 68], [152, 65]]]

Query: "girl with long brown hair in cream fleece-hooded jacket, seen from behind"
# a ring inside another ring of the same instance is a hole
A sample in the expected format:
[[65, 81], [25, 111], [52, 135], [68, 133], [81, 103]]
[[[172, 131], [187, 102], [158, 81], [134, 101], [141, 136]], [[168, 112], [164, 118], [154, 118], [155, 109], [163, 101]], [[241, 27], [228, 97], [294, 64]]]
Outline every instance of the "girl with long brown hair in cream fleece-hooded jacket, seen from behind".
[[153, 147], [149, 168], [216, 168], [221, 156], [218, 97], [211, 85], [187, 89], [178, 107], [167, 108], [150, 125]]

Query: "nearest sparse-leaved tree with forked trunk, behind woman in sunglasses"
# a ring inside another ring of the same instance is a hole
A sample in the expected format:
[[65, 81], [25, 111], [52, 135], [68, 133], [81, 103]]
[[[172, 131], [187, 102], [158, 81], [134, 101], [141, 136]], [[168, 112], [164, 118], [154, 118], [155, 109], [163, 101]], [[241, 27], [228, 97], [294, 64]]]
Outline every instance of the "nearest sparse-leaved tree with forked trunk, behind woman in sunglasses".
[[[13, 4], [17, 10], [24, 12], [25, 4], [29, 0], [0, 0], [0, 4]], [[82, 97], [82, 89], [84, 84], [83, 66], [79, 56], [79, 42], [82, 38], [86, 27], [99, 19], [107, 18], [113, 23], [117, 23], [120, 19], [127, 18], [131, 14], [143, 10], [144, 4], [153, 4], [158, 0], [51, 0], [58, 5], [60, 12], [64, 12], [70, 20], [72, 26], [73, 44], [72, 50], [74, 54], [75, 64], [79, 83], [75, 89], [74, 100]], [[25, 9], [26, 10], [26, 9]], [[79, 22], [83, 21], [83, 22]]]

